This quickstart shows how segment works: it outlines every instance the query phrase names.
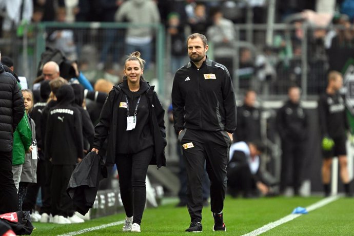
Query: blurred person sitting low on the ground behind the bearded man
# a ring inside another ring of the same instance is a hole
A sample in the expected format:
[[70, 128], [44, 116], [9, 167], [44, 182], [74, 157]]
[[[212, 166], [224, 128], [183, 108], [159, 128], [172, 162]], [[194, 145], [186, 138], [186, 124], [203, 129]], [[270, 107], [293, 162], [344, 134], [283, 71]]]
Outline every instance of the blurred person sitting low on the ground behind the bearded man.
[[244, 198], [270, 195], [272, 190], [263, 179], [260, 154], [265, 145], [259, 141], [233, 143], [230, 147], [230, 161], [227, 166], [227, 187], [231, 196], [240, 192]]

